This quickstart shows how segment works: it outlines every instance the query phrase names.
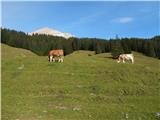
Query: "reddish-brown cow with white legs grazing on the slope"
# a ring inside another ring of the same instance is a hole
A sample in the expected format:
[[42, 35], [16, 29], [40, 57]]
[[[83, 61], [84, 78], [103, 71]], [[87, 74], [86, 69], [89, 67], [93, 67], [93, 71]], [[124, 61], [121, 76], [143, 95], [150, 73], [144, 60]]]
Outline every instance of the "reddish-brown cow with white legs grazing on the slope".
[[49, 51], [48, 53], [48, 61], [49, 62], [55, 62], [56, 59], [55, 58], [58, 58], [58, 62], [63, 62], [63, 59], [64, 59], [64, 52], [63, 50], [51, 50]]

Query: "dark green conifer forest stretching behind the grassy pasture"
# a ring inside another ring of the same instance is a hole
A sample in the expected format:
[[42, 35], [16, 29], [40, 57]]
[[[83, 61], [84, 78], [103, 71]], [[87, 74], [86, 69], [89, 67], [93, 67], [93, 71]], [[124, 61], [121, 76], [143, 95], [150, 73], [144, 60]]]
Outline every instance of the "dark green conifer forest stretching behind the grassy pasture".
[[31, 50], [37, 55], [48, 55], [53, 49], [63, 49], [65, 55], [77, 50], [95, 51], [95, 54], [111, 52], [114, 58], [131, 51], [141, 52], [150, 57], [160, 58], [160, 36], [143, 38], [69, 38], [51, 35], [28, 35], [21, 31], [1, 28], [1, 42], [13, 47]]

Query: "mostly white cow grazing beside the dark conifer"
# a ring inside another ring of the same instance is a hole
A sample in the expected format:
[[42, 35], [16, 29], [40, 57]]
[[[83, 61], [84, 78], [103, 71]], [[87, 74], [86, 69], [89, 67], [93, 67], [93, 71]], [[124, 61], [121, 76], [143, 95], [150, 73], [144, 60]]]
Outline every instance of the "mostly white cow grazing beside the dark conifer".
[[122, 60], [123, 63], [125, 63], [125, 60], [130, 60], [132, 63], [134, 63], [134, 56], [133, 54], [121, 54], [118, 57], [118, 63], [120, 63]]

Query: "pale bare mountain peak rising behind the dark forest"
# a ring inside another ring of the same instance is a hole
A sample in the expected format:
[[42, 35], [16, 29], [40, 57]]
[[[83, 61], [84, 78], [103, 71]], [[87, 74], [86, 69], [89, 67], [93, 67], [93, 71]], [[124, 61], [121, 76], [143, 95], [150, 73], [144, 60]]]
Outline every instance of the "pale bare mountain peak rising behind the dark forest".
[[55, 29], [52, 29], [52, 28], [48, 28], [48, 27], [44, 27], [44, 28], [38, 29], [38, 30], [30, 32], [28, 34], [29, 35], [33, 35], [33, 34], [45, 34], [45, 35], [64, 37], [66, 39], [68, 39], [70, 37], [75, 37], [74, 35], [72, 35], [70, 33], [60, 32], [58, 30], [55, 30]]

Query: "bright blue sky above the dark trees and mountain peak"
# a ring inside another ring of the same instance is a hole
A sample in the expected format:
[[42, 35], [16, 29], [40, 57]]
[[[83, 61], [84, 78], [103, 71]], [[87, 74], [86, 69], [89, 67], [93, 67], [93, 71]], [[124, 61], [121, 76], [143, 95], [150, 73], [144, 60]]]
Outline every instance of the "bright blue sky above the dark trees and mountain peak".
[[2, 27], [32, 32], [42, 27], [77, 37], [148, 38], [160, 34], [160, 1], [2, 2]]

